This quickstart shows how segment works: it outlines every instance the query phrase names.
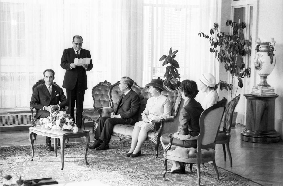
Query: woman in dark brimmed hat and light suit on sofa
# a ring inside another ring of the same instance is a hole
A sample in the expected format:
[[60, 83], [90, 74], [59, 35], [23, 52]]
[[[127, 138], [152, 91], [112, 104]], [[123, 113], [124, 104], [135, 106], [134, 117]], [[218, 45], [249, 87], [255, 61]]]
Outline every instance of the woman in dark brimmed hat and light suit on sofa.
[[169, 99], [161, 94], [164, 91], [161, 79], [152, 79], [145, 86], [149, 88], [151, 98], [147, 100], [145, 110], [143, 111], [142, 121], [134, 125], [132, 134], [132, 145], [126, 156], [137, 157], [141, 154], [141, 146], [147, 138], [147, 132], [154, 130], [154, 123], [160, 122], [165, 116], [171, 116], [171, 106]]

